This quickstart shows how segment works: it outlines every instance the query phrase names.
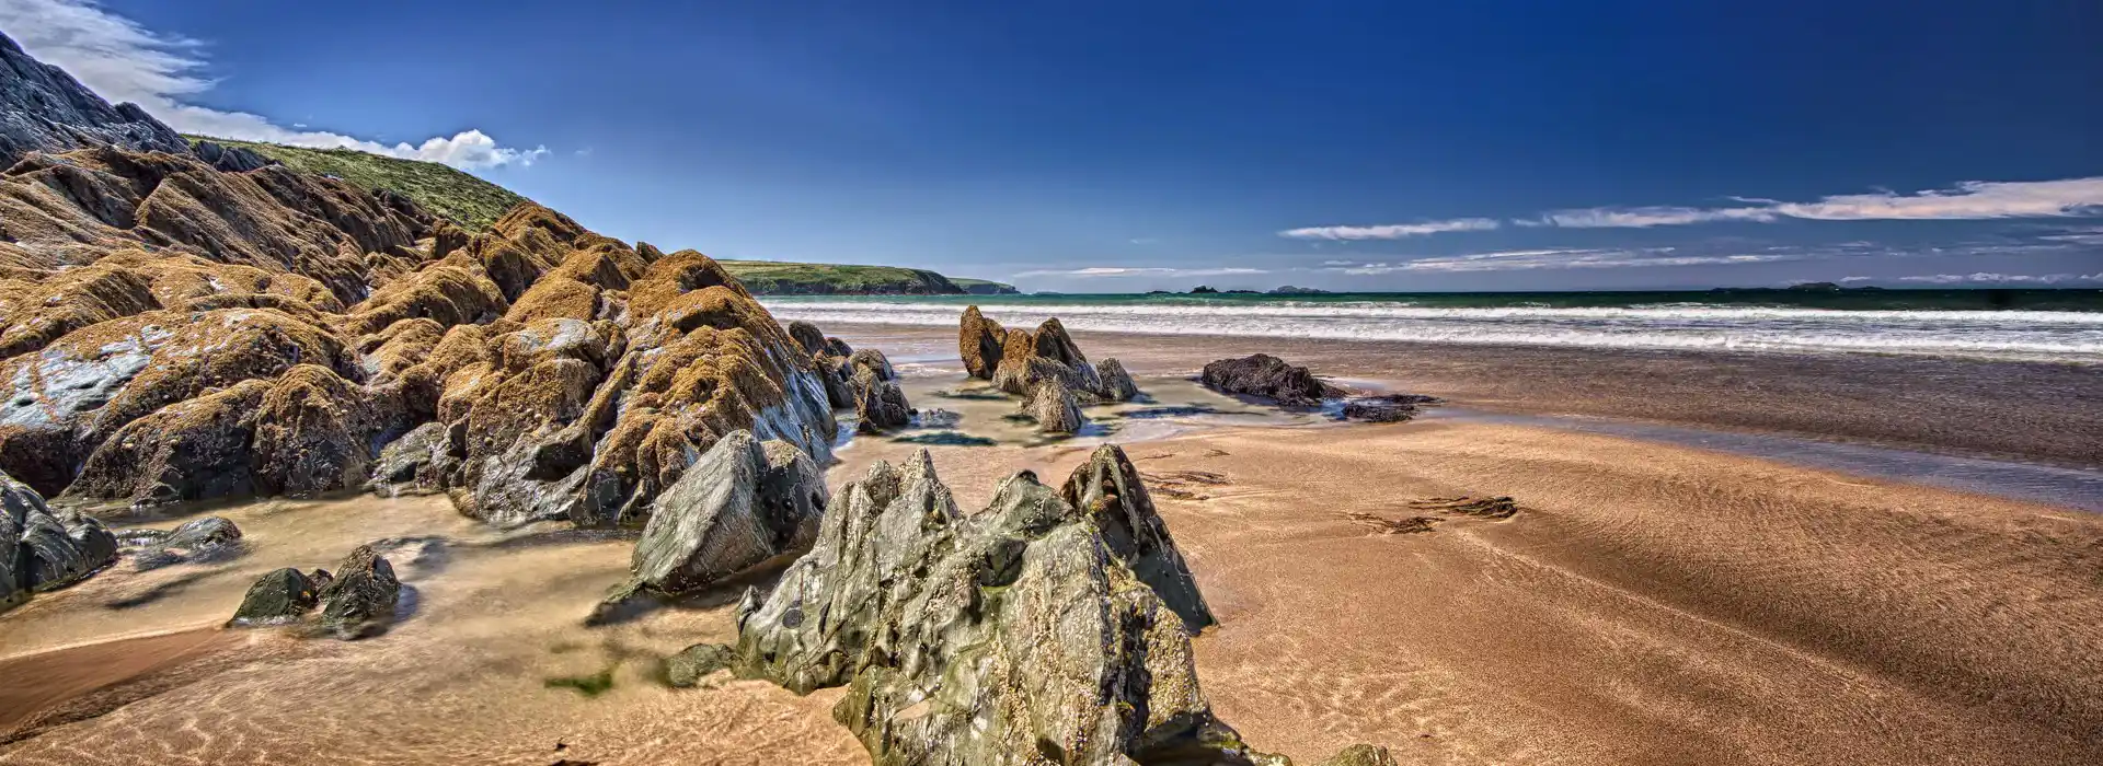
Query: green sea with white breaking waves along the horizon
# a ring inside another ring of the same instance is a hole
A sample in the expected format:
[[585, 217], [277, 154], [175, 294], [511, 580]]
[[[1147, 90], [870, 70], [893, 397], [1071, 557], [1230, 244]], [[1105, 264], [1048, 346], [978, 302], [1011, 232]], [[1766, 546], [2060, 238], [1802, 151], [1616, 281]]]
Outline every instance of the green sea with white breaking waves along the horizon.
[[1895, 353], [2103, 363], [2103, 290], [1581, 292], [1329, 296], [763, 296], [778, 319], [1001, 323], [1169, 336], [1579, 348]]

